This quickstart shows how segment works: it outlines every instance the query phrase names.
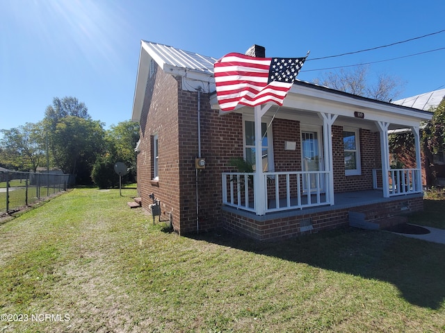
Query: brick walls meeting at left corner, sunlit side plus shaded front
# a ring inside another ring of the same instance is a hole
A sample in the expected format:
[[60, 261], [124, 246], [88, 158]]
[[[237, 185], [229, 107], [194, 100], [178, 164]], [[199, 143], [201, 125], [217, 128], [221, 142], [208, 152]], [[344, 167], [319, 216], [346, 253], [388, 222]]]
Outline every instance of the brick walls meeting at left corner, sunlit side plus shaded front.
[[[219, 226], [221, 173], [236, 171], [229, 160], [243, 156], [243, 127], [241, 114], [220, 116], [211, 110], [209, 94], [201, 93], [201, 155], [207, 166], [196, 173], [197, 92], [180, 87], [180, 78], [159, 68], [149, 78], [140, 122], [138, 189], [145, 210], [152, 203], [149, 194], [154, 193], [161, 201], [161, 218], [169, 219], [171, 214], [174, 229], [186, 234]], [[155, 134], [159, 135], [159, 182], [152, 181]]]

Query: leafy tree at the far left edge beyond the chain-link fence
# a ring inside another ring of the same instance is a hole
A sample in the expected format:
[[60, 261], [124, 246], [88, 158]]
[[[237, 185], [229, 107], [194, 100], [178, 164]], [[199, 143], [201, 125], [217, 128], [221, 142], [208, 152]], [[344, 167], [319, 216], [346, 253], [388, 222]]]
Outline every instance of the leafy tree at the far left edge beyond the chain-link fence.
[[44, 161], [45, 142], [42, 123], [26, 123], [10, 130], [0, 130], [1, 160], [22, 171], [36, 171]]

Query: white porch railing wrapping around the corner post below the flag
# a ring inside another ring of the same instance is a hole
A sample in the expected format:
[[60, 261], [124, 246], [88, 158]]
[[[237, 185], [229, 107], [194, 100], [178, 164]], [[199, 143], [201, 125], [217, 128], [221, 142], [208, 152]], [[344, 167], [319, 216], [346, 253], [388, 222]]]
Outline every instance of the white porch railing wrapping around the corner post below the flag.
[[[330, 205], [329, 171], [264, 173], [266, 212]], [[223, 204], [256, 212], [255, 173], [223, 173]]]

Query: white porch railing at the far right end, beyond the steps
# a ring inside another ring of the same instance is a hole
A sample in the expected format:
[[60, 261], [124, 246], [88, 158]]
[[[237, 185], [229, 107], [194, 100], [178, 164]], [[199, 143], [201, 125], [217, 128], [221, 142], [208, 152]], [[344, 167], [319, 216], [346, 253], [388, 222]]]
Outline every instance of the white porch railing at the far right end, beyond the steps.
[[[421, 193], [420, 169], [389, 169], [389, 196]], [[373, 169], [373, 188], [382, 189], [382, 169]]]

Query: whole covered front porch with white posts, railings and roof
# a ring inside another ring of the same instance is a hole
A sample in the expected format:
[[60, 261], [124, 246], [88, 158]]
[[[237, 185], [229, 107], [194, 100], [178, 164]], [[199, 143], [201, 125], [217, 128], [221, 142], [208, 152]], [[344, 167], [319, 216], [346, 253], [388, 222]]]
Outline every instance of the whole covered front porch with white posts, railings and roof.
[[[221, 173], [229, 229], [270, 239], [347, 224], [350, 207], [373, 205], [376, 219], [422, 209], [419, 126], [429, 112], [301, 81], [281, 107], [234, 112], [253, 172]], [[391, 168], [388, 136], [400, 128], [414, 136], [412, 169]]]

